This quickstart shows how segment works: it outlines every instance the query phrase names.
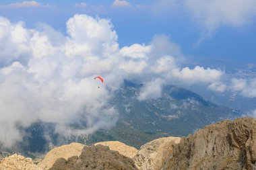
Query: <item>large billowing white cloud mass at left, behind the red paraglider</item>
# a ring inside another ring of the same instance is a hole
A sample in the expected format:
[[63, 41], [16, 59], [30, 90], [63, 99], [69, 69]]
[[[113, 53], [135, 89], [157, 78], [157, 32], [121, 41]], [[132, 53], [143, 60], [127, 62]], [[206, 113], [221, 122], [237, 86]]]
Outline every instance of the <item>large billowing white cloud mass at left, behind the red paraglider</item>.
[[[5, 136], [0, 141], [5, 146], [21, 139], [17, 123], [25, 127], [36, 120], [58, 127], [87, 124], [86, 129], [70, 134], [115, 125], [117, 112], [108, 105], [111, 91], [104, 85], [98, 89], [93, 79], [96, 74], [109, 77], [108, 81], [115, 78], [109, 76], [115, 75], [111, 69], [115, 58], [109, 54], [118, 50], [117, 34], [109, 20], [75, 15], [67, 22], [67, 37], [44, 24], [40, 30], [28, 30], [22, 22], [12, 24], [1, 17], [0, 25], [0, 62], [4, 64], [0, 68], [0, 122], [4, 122], [0, 133]], [[86, 46], [85, 53], [76, 50]], [[115, 82], [112, 85], [120, 83]]]

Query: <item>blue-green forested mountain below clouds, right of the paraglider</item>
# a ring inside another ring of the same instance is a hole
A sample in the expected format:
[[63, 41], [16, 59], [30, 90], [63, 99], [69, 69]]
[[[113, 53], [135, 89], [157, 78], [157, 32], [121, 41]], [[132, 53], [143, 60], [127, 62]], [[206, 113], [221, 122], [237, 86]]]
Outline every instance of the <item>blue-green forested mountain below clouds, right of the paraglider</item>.
[[141, 87], [143, 84], [125, 81], [110, 101], [119, 112], [117, 126], [111, 130], [98, 130], [89, 136], [88, 144], [108, 139], [138, 148], [155, 138], [187, 136], [207, 124], [243, 115], [241, 111], [216, 105], [174, 85], [164, 86], [157, 99], [139, 101], [137, 96]]

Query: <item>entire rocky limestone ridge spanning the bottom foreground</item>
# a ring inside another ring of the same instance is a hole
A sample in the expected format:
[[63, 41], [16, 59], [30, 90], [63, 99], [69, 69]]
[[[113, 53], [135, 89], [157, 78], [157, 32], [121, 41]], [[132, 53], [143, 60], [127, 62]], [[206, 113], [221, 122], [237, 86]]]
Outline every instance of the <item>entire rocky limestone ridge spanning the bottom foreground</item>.
[[158, 138], [137, 151], [118, 141], [86, 146], [68, 144], [50, 151], [34, 165], [32, 159], [12, 155], [0, 169], [256, 169], [256, 119], [225, 120], [188, 137]]

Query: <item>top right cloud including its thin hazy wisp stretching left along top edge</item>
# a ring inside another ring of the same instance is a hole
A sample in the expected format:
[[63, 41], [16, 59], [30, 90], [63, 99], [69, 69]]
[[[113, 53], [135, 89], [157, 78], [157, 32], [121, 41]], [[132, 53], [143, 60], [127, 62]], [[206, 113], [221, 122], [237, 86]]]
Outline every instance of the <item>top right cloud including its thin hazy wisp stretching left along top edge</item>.
[[159, 0], [150, 6], [153, 15], [190, 18], [202, 30], [201, 40], [222, 26], [241, 28], [255, 19], [255, 0]]

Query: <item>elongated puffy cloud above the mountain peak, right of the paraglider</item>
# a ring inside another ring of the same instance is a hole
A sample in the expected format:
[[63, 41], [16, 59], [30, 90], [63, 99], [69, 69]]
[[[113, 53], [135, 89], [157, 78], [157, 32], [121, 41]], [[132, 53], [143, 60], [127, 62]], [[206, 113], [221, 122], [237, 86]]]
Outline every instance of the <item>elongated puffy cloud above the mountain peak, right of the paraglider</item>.
[[120, 53], [125, 56], [120, 68], [133, 76], [140, 74], [146, 81], [151, 81], [152, 78], [148, 77], [160, 77], [168, 83], [210, 85], [214, 91], [225, 89], [224, 83], [220, 83], [224, 71], [200, 66], [193, 69], [180, 67], [179, 64], [185, 60], [181, 48], [170, 42], [167, 36], [154, 36], [148, 46], [133, 44], [123, 47]]

